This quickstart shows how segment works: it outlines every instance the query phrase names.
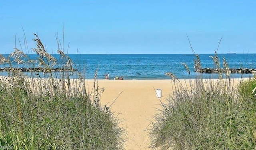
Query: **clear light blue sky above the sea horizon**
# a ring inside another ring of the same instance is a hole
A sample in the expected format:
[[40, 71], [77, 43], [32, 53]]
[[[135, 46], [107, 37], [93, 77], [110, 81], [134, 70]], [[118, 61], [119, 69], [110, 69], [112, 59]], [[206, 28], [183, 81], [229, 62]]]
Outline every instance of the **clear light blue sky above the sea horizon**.
[[256, 0], [2, 0], [0, 53], [15, 35], [31, 53], [33, 33], [56, 53], [63, 27], [68, 54], [192, 53], [186, 35], [196, 53], [214, 53], [221, 38], [218, 53], [256, 53]]

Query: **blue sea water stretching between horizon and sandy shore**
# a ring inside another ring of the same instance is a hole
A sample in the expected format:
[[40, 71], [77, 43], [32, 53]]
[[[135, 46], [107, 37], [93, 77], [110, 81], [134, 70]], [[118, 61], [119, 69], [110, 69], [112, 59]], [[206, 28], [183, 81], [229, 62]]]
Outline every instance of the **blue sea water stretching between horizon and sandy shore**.
[[[4, 55], [7, 56], [7, 55]], [[60, 58], [59, 55], [53, 55]], [[179, 79], [196, 78], [194, 72], [193, 54], [113, 54], [113, 55], [68, 55], [74, 61], [78, 70], [86, 70], [85, 78], [93, 79], [98, 70], [98, 79], [104, 79], [105, 73], [110, 79], [115, 76], [124, 76], [124, 79], [169, 79], [166, 72], [172, 72]], [[200, 54], [203, 68], [213, 68], [214, 54]], [[221, 67], [225, 57], [230, 68], [256, 68], [256, 54], [218, 54]], [[37, 58], [30, 55], [30, 59]], [[182, 63], [190, 67], [191, 74], [186, 72]], [[0, 65], [2, 67], [3, 65]], [[218, 74], [202, 74], [204, 78], [217, 78]], [[232, 78], [249, 77], [252, 74], [232, 74]]]

